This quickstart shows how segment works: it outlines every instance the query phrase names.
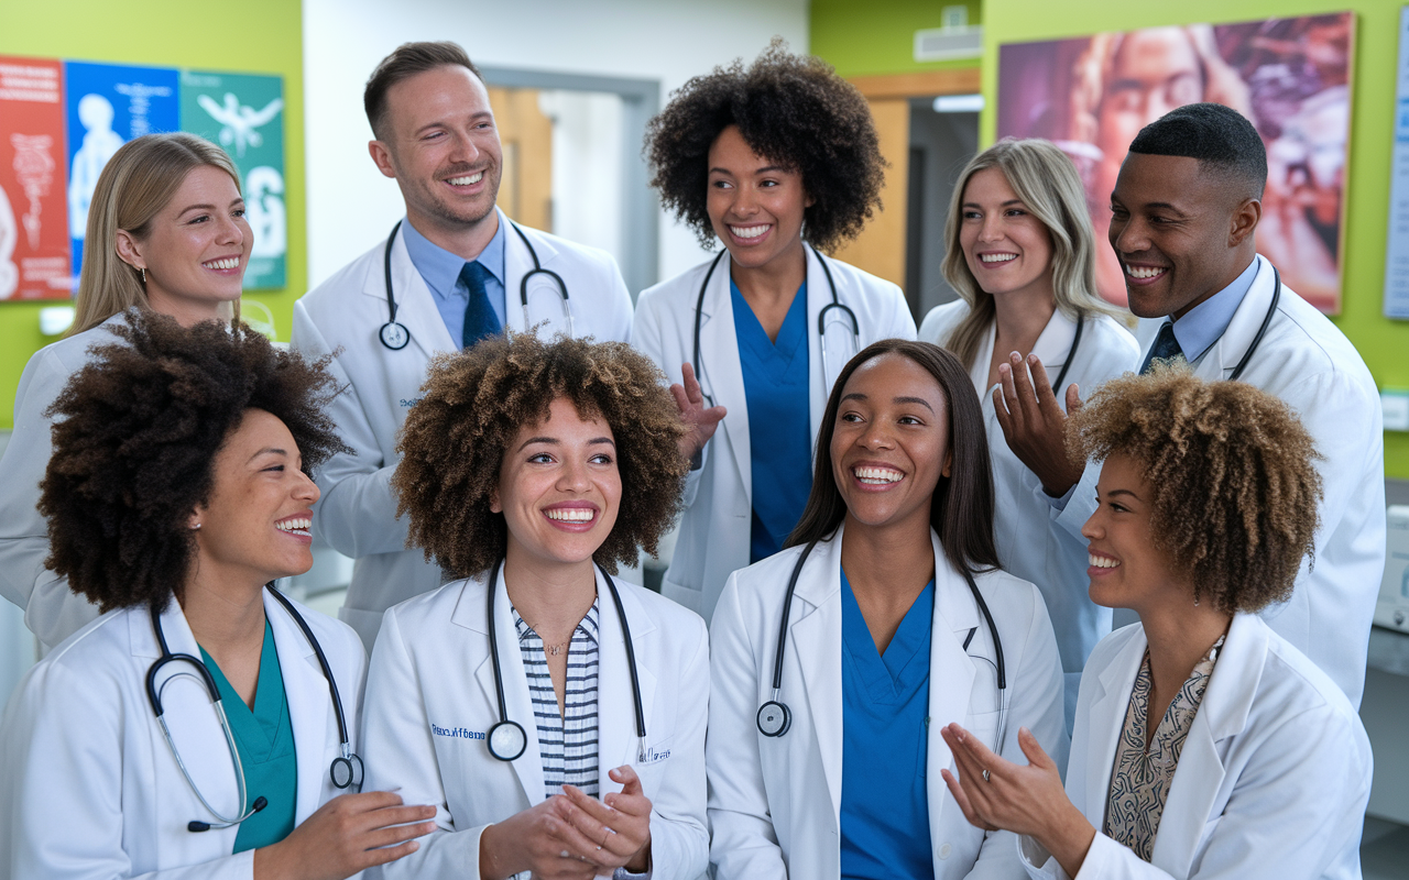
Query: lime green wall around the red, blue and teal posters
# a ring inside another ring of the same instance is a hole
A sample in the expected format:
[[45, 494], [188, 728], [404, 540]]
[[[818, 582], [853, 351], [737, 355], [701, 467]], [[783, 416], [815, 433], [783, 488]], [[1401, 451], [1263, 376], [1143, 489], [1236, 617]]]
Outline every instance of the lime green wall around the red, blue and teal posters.
[[[299, 0], [244, 0], [237, 7], [183, 0], [0, 0], [0, 55], [201, 68], [283, 76], [285, 204], [289, 222], [285, 290], [251, 294], [289, 338], [293, 300], [307, 286], [303, 173], [303, 8]], [[0, 428], [14, 422], [14, 391], [39, 335], [39, 308], [0, 303]]]

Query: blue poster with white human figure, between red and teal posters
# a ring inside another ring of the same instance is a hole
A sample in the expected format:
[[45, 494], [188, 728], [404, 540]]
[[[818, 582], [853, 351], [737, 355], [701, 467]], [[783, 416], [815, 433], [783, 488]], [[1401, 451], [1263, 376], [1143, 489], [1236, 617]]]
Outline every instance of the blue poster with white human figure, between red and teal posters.
[[175, 68], [69, 61], [63, 63], [63, 84], [69, 135], [69, 239], [76, 282], [99, 173], [117, 148], [132, 138], [180, 128], [180, 82]]

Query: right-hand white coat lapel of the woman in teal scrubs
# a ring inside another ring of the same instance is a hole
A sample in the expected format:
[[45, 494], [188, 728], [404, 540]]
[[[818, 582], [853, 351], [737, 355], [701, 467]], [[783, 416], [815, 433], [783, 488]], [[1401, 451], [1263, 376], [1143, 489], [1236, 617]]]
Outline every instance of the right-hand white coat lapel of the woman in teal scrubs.
[[[313, 645], [299, 629], [289, 611], [265, 590], [265, 617], [273, 629], [283, 693], [289, 701], [289, 724], [293, 728], [293, 753], [299, 763], [294, 822], [313, 815], [323, 797], [323, 781], [330, 766], [328, 741], [337, 736], [333, 717], [333, 694], [318, 666]], [[328, 728], [333, 728], [330, 736]]]

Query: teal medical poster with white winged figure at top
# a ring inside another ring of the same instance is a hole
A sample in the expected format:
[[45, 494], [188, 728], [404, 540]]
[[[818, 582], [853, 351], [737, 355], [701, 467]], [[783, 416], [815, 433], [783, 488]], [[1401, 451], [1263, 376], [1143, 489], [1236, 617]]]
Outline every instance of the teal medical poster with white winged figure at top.
[[286, 284], [283, 77], [183, 70], [180, 127], [225, 148], [240, 168], [254, 230], [245, 290]]

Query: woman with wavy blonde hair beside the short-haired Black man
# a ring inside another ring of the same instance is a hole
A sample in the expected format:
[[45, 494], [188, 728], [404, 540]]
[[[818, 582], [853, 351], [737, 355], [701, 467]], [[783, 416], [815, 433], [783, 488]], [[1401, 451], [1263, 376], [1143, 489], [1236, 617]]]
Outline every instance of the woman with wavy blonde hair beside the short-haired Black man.
[[1140, 348], [1096, 296], [1081, 179], [1048, 141], [1005, 139], [975, 156], [954, 187], [944, 238], [944, 277], [962, 298], [930, 311], [920, 339], [954, 352], [983, 404], [998, 553], [1005, 570], [1037, 584], [1047, 600], [1069, 728], [1081, 669], [1110, 631], [1110, 611], [1085, 596], [1085, 545], [1051, 528], [1041, 482], [1007, 448], [1009, 404], [998, 386], [1026, 359], [1034, 380], [1045, 369], [1053, 387], [1095, 387], [1136, 369]]

